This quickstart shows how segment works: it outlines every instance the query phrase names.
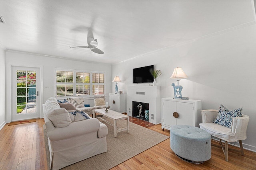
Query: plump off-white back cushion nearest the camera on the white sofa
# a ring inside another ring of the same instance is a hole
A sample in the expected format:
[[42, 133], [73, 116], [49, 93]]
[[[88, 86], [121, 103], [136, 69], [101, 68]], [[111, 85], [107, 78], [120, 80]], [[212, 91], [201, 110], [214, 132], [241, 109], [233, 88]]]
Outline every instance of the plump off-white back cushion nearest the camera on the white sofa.
[[68, 111], [64, 108], [46, 107], [46, 115], [55, 127], [66, 127], [72, 123]]

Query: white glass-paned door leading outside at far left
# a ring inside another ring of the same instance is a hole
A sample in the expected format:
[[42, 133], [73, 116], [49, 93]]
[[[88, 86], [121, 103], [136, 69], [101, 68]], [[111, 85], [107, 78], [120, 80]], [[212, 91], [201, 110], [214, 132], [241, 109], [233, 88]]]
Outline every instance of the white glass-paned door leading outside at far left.
[[40, 117], [39, 68], [12, 67], [12, 121]]

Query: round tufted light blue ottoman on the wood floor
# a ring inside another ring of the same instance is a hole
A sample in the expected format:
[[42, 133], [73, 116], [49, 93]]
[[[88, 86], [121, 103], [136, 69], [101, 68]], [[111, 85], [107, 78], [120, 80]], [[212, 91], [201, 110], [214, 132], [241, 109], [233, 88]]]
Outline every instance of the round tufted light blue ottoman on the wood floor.
[[200, 164], [211, 158], [211, 135], [189, 125], [175, 125], [170, 129], [170, 147], [181, 159]]

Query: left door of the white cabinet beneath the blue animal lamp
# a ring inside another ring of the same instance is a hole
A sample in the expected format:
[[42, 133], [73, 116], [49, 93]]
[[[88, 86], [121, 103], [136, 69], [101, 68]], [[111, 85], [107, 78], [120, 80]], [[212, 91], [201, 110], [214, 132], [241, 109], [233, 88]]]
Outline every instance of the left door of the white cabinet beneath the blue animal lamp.
[[173, 112], [176, 111], [176, 102], [163, 100], [163, 124], [168, 126], [176, 125], [176, 118], [173, 117]]

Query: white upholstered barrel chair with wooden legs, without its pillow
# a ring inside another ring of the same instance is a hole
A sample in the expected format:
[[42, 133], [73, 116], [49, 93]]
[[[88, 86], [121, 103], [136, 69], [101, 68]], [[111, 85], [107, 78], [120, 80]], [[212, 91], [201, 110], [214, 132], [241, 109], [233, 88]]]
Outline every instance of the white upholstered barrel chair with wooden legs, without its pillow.
[[[220, 139], [220, 145], [225, 155], [225, 160], [228, 162], [228, 142], [239, 141], [242, 156], [244, 156], [244, 150], [242, 140], [246, 139], [246, 130], [249, 122], [248, 115], [241, 117], [233, 117], [231, 128], [212, 123], [217, 116], [218, 110], [209, 109], [201, 110], [202, 123], [199, 123], [200, 128], [204, 129], [213, 137]], [[222, 145], [222, 140], [225, 141], [225, 147]]]

